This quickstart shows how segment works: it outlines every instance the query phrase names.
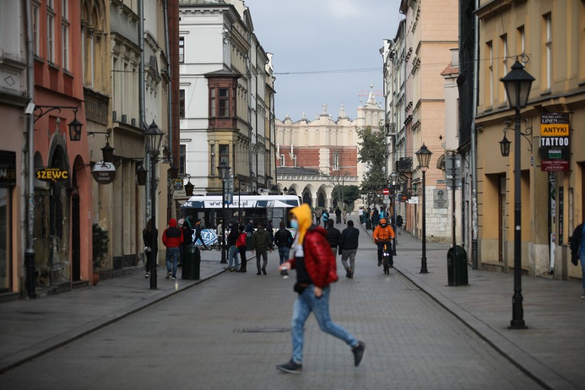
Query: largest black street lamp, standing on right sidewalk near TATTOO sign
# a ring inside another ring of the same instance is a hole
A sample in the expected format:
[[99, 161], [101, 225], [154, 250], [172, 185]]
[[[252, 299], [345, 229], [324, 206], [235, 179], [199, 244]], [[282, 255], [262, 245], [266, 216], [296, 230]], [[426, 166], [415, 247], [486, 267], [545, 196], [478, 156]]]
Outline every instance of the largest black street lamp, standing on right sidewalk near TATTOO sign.
[[[516, 60], [512, 70], [504, 78], [506, 95], [510, 108], [514, 108], [514, 297], [512, 297], [512, 321], [509, 329], [525, 329], [524, 310], [522, 307], [522, 234], [520, 227], [520, 108], [524, 108], [528, 102], [530, 88], [534, 77], [524, 70], [524, 66]], [[509, 148], [509, 146], [508, 146]]]

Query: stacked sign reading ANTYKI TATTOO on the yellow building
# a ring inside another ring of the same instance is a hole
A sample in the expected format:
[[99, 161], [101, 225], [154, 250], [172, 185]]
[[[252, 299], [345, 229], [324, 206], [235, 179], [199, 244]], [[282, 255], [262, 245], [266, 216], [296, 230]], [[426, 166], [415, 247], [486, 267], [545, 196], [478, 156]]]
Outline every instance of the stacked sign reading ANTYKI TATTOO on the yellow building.
[[569, 170], [569, 113], [540, 115], [540, 170]]

